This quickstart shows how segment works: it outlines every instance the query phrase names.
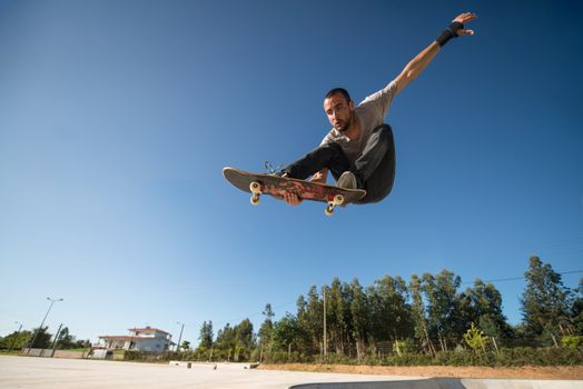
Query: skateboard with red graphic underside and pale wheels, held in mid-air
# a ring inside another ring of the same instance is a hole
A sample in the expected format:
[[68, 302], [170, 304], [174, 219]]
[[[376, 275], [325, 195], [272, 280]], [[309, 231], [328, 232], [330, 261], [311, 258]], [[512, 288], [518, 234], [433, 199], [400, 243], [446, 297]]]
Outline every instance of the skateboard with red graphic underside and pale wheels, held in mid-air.
[[236, 188], [251, 193], [251, 205], [259, 205], [261, 194], [284, 198], [286, 193], [296, 193], [303, 200], [326, 202], [327, 216], [334, 213], [337, 206], [356, 202], [366, 196], [364, 189], [344, 189], [335, 186], [278, 177], [275, 174], [249, 173], [235, 168], [224, 168], [223, 176]]

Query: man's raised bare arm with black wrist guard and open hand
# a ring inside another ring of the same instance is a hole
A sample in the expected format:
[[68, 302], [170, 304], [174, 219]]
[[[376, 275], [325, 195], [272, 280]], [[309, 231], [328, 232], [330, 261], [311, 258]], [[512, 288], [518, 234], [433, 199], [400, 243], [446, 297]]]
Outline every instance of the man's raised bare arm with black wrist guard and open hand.
[[447, 42], [451, 38], [457, 38], [461, 36], [473, 36], [473, 30], [467, 30], [464, 28], [464, 23], [467, 23], [477, 16], [472, 12], [464, 12], [455, 18], [449, 27], [437, 38], [436, 41], [427, 46], [422, 52], [419, 52], [409, 63], [403, 69], [401, 74], [394, 80], [397, 84], [397, 93], [405, 89], [411, 81], [415, 80], [423, 70], [431, 63], [435, 54], [439, 52], [442, 46]]

